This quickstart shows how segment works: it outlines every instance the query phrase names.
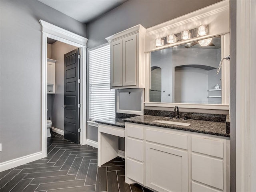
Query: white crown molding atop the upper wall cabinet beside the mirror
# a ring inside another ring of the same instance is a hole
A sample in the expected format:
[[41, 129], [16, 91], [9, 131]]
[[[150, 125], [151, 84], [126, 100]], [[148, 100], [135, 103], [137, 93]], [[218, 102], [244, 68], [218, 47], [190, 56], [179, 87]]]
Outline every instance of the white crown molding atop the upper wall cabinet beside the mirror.
[[106, 40], [108, 42], [112, 42], [114, 40], [118, 40], [120, 38], [124, 38], [126, 36], [130, 36], [130, 35], [133, 35], [133, 34], [136, 34], [136, 33], [140, 33], [141, 35], [145, 36], [146, 28], [144, 28], [141, 24], [138, 24], [134, 27], [128, 28], [124, 31], [121, 31], [121, 32], [116, 33], [112, 36], [109, 36], [109, 37], [106, 38]]

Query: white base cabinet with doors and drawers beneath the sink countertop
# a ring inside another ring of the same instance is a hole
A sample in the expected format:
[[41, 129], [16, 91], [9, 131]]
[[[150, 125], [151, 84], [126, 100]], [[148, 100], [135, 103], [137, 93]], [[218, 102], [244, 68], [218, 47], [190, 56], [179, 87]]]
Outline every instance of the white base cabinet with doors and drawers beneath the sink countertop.
[[230, 138], [126, 122], [126, 182], [158, 192], [229, 192]]

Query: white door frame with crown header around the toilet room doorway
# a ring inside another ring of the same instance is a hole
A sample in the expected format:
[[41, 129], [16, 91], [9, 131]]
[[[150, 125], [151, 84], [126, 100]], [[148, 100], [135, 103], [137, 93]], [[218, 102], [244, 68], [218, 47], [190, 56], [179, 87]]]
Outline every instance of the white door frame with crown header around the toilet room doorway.
[[88, 39], [73, 32], [39, 20], [42, 26], [42, 155], [47, 155], [47, 38], [80, 48], [80, 144], [86, 144], [86, 48]]

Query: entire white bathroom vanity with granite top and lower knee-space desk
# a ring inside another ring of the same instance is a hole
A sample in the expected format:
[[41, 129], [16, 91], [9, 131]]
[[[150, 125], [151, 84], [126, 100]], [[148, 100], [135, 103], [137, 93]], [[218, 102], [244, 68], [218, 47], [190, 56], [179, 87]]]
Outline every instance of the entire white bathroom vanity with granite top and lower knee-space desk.
[[118, 136], [125, 137], [127, 183], [158, 192], [228, 192], [230, 135], [223, 118], [214, 118], [142, 115], [99, 120], [98, 166], [118, 156]]

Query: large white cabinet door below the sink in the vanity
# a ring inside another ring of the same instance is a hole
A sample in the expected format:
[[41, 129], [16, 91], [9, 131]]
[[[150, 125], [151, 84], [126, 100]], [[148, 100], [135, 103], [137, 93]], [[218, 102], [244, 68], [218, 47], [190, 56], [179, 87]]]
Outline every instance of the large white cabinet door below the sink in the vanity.
[[146, 186], [159, 192], [187, 192], [188, 152], [146, 142]]

